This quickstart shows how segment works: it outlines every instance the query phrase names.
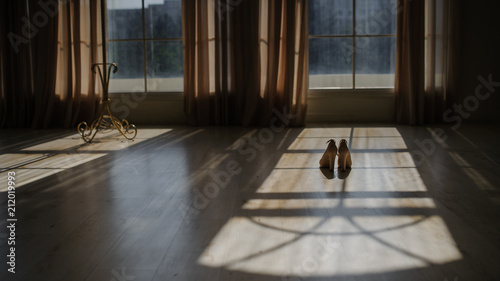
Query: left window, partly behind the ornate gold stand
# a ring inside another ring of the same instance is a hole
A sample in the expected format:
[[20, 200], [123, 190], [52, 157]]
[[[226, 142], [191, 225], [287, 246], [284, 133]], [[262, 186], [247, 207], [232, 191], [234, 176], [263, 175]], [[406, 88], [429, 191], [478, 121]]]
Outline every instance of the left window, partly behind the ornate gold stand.
[[110, 92], [184, 88], [181, 0], [108, 0]]

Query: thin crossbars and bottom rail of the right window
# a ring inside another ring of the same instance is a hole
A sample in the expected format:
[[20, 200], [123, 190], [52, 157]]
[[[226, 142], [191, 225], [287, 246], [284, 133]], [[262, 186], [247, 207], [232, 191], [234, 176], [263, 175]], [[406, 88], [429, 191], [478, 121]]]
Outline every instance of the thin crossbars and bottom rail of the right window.
[[[358, 38], [397, 38], [397, 34], [357, 34], [356, 30], [356, 0], [352, 0], [352, 34], [330, 34], [330, 35], [309, 35], [308, 39], [321, 39], [321, 38], [351, 38], [352, 39], [352, 86], [349, 87], [313, 87], [309, 86], [310, 91], [321, 91], [321, 90], [333, 90], [333, 91], [349, 91], [349, 90], [362, 90], [362, 91], [373, 91], [373, 90], [392, 90], [392, 87], [356, 87], [356, 39]], [[309, 74], [309, 79], [311, 74]], [[310, 85], [310, 84], [309, 84]]]

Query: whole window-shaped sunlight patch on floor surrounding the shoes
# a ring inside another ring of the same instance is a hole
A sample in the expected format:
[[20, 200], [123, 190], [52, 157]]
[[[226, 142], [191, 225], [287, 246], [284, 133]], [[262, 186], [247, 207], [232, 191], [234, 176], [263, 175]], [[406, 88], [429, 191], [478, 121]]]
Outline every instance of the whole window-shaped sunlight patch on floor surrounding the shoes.
[[[318, 167], [330, 137], [352, 145], [353, 167], [342, 179]], [[289, 278], [459, 260], [443, 220], [449, 214], [437, 205], [396, 128], [306, 128], [198, 263]]]

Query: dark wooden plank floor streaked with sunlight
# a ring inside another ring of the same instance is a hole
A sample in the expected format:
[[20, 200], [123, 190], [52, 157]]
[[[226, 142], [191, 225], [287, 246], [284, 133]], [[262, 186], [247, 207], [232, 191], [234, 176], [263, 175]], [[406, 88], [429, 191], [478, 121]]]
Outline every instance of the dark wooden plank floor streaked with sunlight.
[[0, 280], [500, 280], [499, 126], [273, 129], [0, 131]]

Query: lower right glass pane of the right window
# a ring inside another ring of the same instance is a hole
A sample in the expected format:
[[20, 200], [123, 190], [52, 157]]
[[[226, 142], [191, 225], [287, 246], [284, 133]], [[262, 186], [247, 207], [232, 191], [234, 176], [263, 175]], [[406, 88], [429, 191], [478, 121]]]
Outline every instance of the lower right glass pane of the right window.
[[356, 88], [394, 87], [395, 37], [356, 38]]

